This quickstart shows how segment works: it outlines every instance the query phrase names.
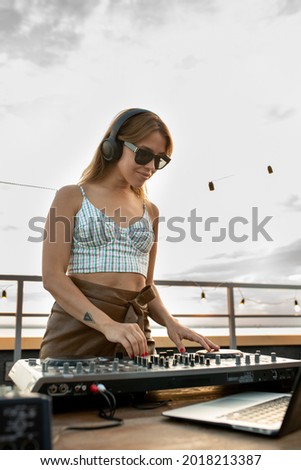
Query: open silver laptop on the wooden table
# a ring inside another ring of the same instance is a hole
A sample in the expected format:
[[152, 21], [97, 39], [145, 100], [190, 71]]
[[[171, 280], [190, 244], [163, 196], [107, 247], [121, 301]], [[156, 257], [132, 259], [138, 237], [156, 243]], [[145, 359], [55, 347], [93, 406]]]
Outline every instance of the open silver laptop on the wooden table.
[[292, 393], [240, 392], [164, 411], [163, 416], [280, 437], [301, 428], [301, 368]]

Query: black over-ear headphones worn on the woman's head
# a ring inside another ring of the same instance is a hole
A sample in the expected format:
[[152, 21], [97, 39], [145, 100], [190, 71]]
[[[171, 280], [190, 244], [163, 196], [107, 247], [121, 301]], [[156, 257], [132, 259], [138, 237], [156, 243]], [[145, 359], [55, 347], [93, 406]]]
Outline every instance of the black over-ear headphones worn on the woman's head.
[[103, 155], [103, 158], [107, 162], [118, 160], [122, 155], [123, 142], [120, 142], [119, 140], [117, 140], [117, 135], [121, 126], [123, 126], [123, 124], [128, 119], [130, 119], [133, 116], [136, 116], [136, 114], [142, 114], [142, 113], [148, 113], [148, 112], [149, 111], [147, 109], [133, 108], [123, 113], [117, 119], [117, 121], [114, 123], [112, 127], [109, 137], [107, 137], [101, 144], [102, 155]]

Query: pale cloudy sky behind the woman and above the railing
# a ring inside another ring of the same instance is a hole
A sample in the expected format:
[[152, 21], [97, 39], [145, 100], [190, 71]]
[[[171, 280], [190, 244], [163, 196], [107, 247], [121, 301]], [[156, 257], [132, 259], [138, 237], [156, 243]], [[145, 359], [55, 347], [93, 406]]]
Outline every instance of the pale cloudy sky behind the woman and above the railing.
[[300, 48], [301, 0], [0, 0], [0, 272], [41, 274], [33, 223], [141, 107], [156, 279], [300, 285]]

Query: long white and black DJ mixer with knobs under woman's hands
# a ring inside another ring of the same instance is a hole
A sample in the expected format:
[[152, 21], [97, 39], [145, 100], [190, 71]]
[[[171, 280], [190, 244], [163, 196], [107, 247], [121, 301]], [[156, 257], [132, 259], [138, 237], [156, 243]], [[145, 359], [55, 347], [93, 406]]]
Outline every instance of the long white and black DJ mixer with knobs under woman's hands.
[[88, 396], [224, 384], [290, 383], [301, 361], [239, 350], [165, 351], [150, 357], [20, 359], [9, 372], [17, 388], [52, 397]]

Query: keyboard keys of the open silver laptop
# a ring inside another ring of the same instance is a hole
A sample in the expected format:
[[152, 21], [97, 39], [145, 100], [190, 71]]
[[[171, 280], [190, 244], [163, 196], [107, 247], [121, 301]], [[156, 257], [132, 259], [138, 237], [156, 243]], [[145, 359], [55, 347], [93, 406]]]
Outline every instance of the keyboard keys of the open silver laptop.
[[219, 416], [222, 419], [251, 421], [260, 424], [272, 424], [282, 421], [288, 407], [290, 397], [279, 397], [265, 403], [248, 406], [239, 411]]

